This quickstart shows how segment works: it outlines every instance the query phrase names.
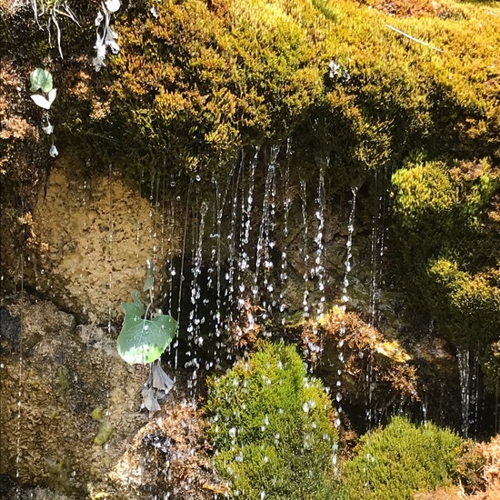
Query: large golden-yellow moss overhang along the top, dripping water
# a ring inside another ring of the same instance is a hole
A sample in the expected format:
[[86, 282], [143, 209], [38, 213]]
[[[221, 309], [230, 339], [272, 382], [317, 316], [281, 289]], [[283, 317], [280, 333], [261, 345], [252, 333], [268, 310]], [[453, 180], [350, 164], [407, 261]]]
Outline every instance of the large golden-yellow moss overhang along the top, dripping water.
[[497, 157], [495, 5], [420, 3], [401, 18], [347, 0], [170, 1], [157, 15], [151, 1], [129, 6], [115, 26], [108, 146], [188, 167], [286, 135], [353, 168], [414, 150]]

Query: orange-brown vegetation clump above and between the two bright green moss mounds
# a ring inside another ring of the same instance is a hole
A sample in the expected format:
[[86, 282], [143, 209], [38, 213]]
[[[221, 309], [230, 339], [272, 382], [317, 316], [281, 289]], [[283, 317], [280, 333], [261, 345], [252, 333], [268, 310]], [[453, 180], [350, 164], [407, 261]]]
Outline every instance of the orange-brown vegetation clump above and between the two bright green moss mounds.
[[[355, 313], [334, 307], [319, 320], [306, 322], [302, 343], [315, 374], [325, 384], [335, 386], [338, 371], [342, 373], [343, 406], [356, 408], [352, 425], [357, 415], [365, 413], [368, 399], [371, 411], [387, 415], [419, 398], [412, 356]], [[372, 376], [367, 377], [367, 373]]]

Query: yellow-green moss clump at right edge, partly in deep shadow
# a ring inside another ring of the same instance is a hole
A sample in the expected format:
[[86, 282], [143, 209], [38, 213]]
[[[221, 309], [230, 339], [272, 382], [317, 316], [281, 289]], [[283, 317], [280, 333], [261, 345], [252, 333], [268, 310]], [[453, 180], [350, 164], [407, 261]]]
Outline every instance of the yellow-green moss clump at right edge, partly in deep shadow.
[[499, 179], [486, 160], [408, 165], [393, 175], [395, 235], [415, 315], [481, 356], [500, 329]]

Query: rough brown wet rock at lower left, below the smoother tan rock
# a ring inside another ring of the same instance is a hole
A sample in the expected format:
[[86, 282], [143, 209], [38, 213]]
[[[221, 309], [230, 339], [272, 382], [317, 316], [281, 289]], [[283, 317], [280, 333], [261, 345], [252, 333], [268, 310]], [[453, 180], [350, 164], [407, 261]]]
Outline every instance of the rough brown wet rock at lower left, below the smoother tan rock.
[[[126, 365], [107, 332], [75, 327], [74, 316], [48, 302], [25, 300], [8, 313], [23, 323], [23, 350], [19, 355], [15, 337], [3, 341], [12, 346], [0, 355], [0, 474], [82, 495], [145, 425], [139, 405], [146, 368]], [[91, 416], [95, 408], [114, 428], [107, 449], [94, 443], [101, 425]]]

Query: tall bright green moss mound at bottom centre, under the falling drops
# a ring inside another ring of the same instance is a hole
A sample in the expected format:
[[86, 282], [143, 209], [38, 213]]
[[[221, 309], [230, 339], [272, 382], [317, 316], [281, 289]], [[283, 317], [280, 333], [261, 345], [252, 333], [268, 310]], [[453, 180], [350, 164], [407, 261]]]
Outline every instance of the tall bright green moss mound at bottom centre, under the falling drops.
[[213, 378], [205, 407], [215, 465], [239, 498], [331, 498], [331, 402], [295, 347], [267, 345]]

